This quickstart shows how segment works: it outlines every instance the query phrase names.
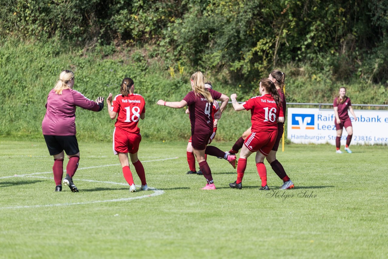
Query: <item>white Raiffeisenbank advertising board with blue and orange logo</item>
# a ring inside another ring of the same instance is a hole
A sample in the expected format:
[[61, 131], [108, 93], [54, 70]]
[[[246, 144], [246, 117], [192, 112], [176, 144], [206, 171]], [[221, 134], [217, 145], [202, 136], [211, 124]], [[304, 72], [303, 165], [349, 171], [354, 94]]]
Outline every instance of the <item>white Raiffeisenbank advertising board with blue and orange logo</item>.
[[[354, 108], [353, 108], [354, 109]], [[349, 112], [353, 126], [352, 144], [388, 145], [388, 111], [354, 110], [357, 121]], [[336, 126], [333, 109], [288, 108], [287, 138], [293, 143], [335, 145]], [[346, 144], [345, 128], [341, 145]]]

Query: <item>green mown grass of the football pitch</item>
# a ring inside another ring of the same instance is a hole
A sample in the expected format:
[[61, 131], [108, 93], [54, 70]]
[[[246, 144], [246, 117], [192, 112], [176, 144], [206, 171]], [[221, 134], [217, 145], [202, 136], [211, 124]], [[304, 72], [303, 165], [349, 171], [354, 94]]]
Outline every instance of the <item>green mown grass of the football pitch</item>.
[[241, 190], [229, 188], [236, 170], [209, 157], [217, 190], [201, 190], [204, 177], [185, 174], [186, 144], [143, 141], [152, 190], [129, 193], [112, 144], [80, 141], [80, 192], [54, 193], [43, 137], [0, 140], [0, 257], [388, 257], [386, 146], [287, 145], [277, 158], [295, 188], [276, 193], [268, 163], [271, 190], [258, 190], [254, 156]]

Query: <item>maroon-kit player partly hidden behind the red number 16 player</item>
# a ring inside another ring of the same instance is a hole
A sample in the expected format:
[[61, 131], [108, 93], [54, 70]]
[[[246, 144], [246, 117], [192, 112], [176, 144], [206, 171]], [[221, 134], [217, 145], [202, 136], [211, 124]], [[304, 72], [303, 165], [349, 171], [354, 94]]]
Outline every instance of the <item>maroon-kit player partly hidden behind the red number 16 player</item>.
[[[284, 92], [283, 92], [285, 78], [286, 78], [286, 74], [282, 73], [279, 70], [273, 70], [268, 76], [268, 79], [275, 84], [276, 90], [279, 93], [279, 96], [281, 97], [284, 118], [286, 117], [285, 116], [286, 97], [284, 96]], [[279, 148], [279, 143], [283, 136], [283, 132], [284, 132], [284, 123], [280, 123], [280, 122], [277, 123], [277, 137], [276, 137], [274, 147], [272, 148], [268, 156], [266, 156], [265, 158], [267, 159], [268, 163], [270, 163], [272, 170], [274, 170], [276, 175], [283, 181], [283, 184], [280, 187], [280, 189], [291, 189], [291, 188], [294, 188], [294, 183], [286, 174], [286, 171], [284, 170], [282, 164], [276, 159], [276, 152], [277, 152], [277, 149]], [[242, 137], [240, 137], [236, 141], [236, 143], [228, 153], [230, 154], [237, 153], [238, 150], [242, 148], [242, 145], [244, 144], [244, 140], [246, 139], [246, 137], [249, 136], [249, 134], [251, 134], [251, 127], [249, 127], [249, 129], [246, 130], [244, 134], [242, 134]]]

